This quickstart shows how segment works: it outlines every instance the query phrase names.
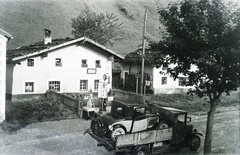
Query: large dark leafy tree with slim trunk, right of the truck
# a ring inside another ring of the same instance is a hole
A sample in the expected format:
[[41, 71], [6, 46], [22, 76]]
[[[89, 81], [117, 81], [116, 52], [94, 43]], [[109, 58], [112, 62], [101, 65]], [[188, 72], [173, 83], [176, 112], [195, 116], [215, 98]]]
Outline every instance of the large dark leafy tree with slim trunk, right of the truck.
[[[163, 39], [152, 42], [155, 66], [168, 68], [174, 78], [189, 77], [199, 97], [210, 103], [204, 154], [211, 153], [214, 113], [221, 95], [230, 95], [240, 86], [240, 13], [233, 4], [221, 0], [182, 0], [158, 8], [165, 30]], [[167, 55], [164, 59], [162, 54]], [[191, 71], [192, 65], [197, 66]]]

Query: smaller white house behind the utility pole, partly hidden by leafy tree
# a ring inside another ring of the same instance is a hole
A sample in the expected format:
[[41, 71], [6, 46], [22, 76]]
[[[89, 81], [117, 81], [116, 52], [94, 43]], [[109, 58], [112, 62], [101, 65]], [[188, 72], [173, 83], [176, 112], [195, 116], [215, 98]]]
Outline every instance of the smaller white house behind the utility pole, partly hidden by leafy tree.
[[[122, 63], [122, 79], [123, 85], [128, 87], [128, 83], [126, 81], [126, 77], [128, 75], [135, 75], [136, 79], [138, 78], [138, 92], [140, 92], [140, 84], [141, 84], [141, 69], [142, 69], [142, 56], [140, 55], [141, 51], [134, 51], [125, 56], [125, 59]], [[191, 86], [185, 86], [188, 78], [186, 76], [180, 75], [179, 78], [174, 80], [167, 73], [167, 68], [163, 65], [159, 68], [153, 67], [151, 64], [151, 59], [153, 58], [153, 54], [149, 51], [146, 52], [145, 55], [145, 65], [144, 72], [149, 76], [150, 86], [147, 87], [153, 91], [154, 94], [172, 94], [172, 93], [184, 93], [192, 88]], [[196, 69], [196, 67], [192, 67], [191, 69]], [[135, 83], [134, 83], [135, 84]], [[137, 84], [135, 84], [137, 85]]]

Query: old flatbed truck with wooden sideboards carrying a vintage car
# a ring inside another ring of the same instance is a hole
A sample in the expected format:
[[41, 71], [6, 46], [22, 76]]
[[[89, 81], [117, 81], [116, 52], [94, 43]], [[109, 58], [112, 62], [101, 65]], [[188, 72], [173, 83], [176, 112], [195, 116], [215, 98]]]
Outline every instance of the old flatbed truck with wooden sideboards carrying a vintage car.
[[189, 147], [196, 151], [201, 133], [184, 110], [114, 100], [111, 112], [96, 116], [85, 133], [115, 154], [150, 155]]

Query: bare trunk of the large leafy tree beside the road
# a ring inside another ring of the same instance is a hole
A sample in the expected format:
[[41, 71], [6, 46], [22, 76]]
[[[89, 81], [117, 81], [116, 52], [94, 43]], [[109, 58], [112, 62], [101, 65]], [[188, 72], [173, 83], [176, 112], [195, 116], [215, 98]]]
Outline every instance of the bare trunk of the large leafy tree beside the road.
[[212, 147], [212, 131], [213, 131], [213, 122], [214, 122], [214, 113], [216, 110], [217, 103], [216, 101], [210, 107], [210, 111], [208, 112], [207, 116], [207, 127], [206, 127], [206, 137], [204, 142], [204, 154], [211, 153]]

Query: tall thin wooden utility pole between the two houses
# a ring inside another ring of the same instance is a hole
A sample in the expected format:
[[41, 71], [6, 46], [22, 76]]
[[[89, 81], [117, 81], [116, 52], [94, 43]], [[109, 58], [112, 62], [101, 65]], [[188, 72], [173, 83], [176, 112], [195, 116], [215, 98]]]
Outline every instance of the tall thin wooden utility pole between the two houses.
[[[147, 10], [144, 13], [144, 25], [143, 25], [143, 45], [142, 45], [142, 76], [141, 76], [141, 95], [143, 95], [143, 78], [144, 78], [144, 59], [145, 59], [145, 33], [146, 33], [146, 18], [147, 18]], [[143, 99], [144, 101], [144, 99]], [[145, 101], [144, 101], [145, 102]]]

